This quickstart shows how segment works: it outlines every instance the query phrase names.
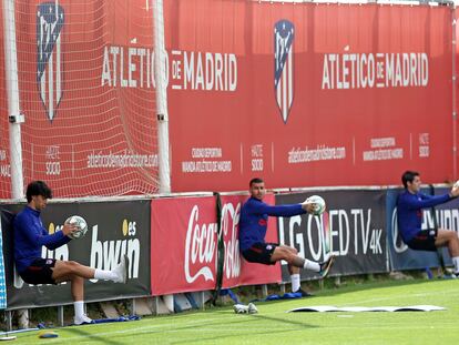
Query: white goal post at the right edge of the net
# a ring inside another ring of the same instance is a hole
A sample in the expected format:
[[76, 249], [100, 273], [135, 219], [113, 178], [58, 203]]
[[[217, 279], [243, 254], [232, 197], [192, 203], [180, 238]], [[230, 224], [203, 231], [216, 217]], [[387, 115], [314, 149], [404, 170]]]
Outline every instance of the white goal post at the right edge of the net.
[[157, 162], [159, 191], [171, 192], [171, 170], [169, 158], [169, 114], [166, 92], [166, 60], [164, 48], [164, 14], [163, 0], [153, 0], [153, 35], [154, 35], [154, 78], [156, 83], [156, 116], [157, 116]]

